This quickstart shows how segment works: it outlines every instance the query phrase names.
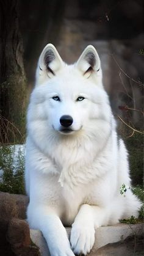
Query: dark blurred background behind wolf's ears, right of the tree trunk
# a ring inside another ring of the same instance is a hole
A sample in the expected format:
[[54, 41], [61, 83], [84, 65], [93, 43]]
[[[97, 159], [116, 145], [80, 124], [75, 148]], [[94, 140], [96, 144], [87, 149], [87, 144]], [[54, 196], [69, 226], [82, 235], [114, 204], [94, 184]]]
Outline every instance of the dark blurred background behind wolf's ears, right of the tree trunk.
[[[121, 114], [118, 106], [125, 104], [142, 108], [143, 86], [128, 76], [144, 81], [143, 1], [19, 1], [19, 16], [30, 87], [34, 86], [38, 56], [47, 43], [53, 43], [68, 63], [92, 44], [101, 57], [113, 111]], [[131, 114], [132, 123], [142, 126], [141, 114]]]

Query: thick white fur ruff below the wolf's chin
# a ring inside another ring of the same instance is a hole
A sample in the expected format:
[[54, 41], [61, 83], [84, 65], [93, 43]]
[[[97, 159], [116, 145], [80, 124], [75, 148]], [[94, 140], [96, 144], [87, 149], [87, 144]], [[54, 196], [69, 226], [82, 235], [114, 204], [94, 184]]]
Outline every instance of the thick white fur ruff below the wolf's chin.
[[[107, 162], [108, 158], [106, 149], [112, 140], [110, 136], [112, 123], [107, 124], [106, 130], [104, 129], [106, 126], [104, 120], [99, 121], [99, 123], [101, 126], [98, 125], [97, 121], [95, 131], [89, 131], [87, 134], [85, 131], [79, 131], [77, 134], [68, 136], [59, 134], [57, 136], [57, 131], [56, 133], [52, 131], [47, 133], [47, 137], [43, 137], [41, 136], [41, 134], [45, 134], [43, 131], [40, 133], [39, 130], [39, 134], [31, 133], [35, 147], [43, 152], [52, 164], [57, 166], [61, 186], [65, 186], [67, 183], [73, 188], [77, 183], [86, 184], [88, 181], [99, 177], [99, 174], [106, 172], [103, 166], [107, 166], [104, 163]], [[38, 144], [37, 138], [38, 141], [41, 138], [42, 143]], [[43, 148], [40, 148], [40, 145], [43, 145]]]

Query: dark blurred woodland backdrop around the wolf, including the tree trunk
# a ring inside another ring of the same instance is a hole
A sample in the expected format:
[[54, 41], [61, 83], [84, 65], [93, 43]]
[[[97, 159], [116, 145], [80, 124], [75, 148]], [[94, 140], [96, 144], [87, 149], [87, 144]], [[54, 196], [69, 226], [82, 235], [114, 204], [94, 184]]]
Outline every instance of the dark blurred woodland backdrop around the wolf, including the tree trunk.
[[143, 0], [0, 0], [0, 19], [1, 145], [25, 142], [27, 103], [44, 46], [53, 43], [71, 64], [92, 44], [129, 148], [133, 182], [142, 185]]

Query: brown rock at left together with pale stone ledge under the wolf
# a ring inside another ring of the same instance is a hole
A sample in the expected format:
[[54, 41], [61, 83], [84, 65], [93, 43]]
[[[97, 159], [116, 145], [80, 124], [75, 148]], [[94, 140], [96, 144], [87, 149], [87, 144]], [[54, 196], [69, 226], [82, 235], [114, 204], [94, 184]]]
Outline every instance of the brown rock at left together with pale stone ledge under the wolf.
[[[0, 192], [0, 255], [50, 256], [40, 230], [29, 230], [26, 218], [28, 197]], [[66, 227], [70, 238], [71, 228]], [[117, 224], [96, 229], [90, 256], [142, 256], [143, 224]]]

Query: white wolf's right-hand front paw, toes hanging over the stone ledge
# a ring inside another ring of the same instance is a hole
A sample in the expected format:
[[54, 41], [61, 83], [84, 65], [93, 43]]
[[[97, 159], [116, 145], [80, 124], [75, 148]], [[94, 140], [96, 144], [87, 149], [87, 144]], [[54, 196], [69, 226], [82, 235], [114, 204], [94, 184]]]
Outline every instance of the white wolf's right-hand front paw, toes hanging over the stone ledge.
[[93, 225], [79, 226], [73, 224], [70, 242], [74, 254], [87, 255], [95, 242], [95, 229]]

